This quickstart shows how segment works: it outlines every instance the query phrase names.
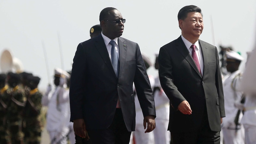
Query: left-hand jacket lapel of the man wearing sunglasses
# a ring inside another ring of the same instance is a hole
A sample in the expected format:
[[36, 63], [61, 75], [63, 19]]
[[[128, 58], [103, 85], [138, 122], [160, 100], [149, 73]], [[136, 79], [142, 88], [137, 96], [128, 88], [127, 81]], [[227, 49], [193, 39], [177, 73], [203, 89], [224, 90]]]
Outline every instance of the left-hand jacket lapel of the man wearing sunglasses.
[[95, 42], [95, 47], [98, 50], [102, 59], [107, 64], [110, 71], [112, 71], [113, 75], [116, 77], [115, 71], [113, 69], [113, 66], [111, 64], [111, 60], [110, 60], [109, 55], [108, 55], [107, 47], [105, 45], [104, 39], [102, 38], [101, 34], [99, 34], [99, 36], [97, 36], [97, 39], [96, 39], [96, 42]]

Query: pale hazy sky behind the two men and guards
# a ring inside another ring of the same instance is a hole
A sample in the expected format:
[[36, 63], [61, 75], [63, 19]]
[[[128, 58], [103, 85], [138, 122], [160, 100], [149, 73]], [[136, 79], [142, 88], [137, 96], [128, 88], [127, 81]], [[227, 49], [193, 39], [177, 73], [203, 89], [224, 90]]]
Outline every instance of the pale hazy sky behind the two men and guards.
[[[126, 19], [122, 37], [137, 42], [141, 52], [151, 57], [153, 63], [154, 53], [181, 35], [177, 15], [186, 5], [202, 9], [201, 40], [218, 48], [232, 46], [246, 59], [246, 52], [255, 44], [255, 0], [0, 0], [0, 53], [10, 50], [22, 62], [24, 71], [41, 78], [39, 89], [43, 90], [48, 75], [42, 41], [52, 84], [55, 67], [72, 69], [77, 45], [90, 38], [89, 30], [99, 24], [100, 11], [115, 7]], [[61, 55], [64, 67], [61, 67]], [[154, 67], [148, 70], [148, 75], [157, 75]]]

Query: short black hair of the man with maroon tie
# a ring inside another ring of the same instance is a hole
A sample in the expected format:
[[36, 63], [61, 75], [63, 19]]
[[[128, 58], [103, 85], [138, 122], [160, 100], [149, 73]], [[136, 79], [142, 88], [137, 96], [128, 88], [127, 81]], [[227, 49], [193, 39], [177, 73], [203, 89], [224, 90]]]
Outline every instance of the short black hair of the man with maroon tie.
[[187, 18], [189, 12], [199, 12], [203, 17], [202, 10], [199, 7], [194, 5], [189, 5], [189, 6], [182, 7], [180, 9], [180, 11], [178, 12], [178, 20], [184, 20], [185, 18]]

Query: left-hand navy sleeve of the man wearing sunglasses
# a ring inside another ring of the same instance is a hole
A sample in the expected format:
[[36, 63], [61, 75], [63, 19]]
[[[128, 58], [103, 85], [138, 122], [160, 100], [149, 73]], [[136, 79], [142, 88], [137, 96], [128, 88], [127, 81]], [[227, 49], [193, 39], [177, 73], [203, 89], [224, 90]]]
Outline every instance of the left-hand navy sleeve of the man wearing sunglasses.
[[70, 78], [70, 121], [83, 118], [83, 96], [86, 91], [86, 53], [82, 43], [77, 47]]

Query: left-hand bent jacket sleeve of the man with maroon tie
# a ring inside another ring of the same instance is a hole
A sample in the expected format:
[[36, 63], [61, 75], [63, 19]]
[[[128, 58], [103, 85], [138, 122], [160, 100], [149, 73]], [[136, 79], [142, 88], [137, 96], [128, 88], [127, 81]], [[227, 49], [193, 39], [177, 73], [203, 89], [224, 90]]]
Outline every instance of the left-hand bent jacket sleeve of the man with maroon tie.
[[186, 100], [184, 96], [178, 91], [178, 88], [173, 83], [173, 66], [170, 55], [164, 47], [160, 48], [158, 56], [159, 64], [159, 80], [160, 84], [170, 99], [173, 108], [178, 109], [178, 105]]

